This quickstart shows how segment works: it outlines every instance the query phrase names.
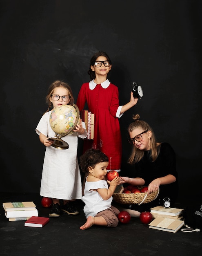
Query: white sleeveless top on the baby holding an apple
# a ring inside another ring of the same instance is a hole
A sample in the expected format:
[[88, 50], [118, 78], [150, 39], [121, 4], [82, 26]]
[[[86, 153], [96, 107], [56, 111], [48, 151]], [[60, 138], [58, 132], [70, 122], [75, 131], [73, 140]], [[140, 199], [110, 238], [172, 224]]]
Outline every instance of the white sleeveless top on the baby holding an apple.
[[95, 216], [98, 212], [111, 208], [112, 196], [108, 200], [102, 199], [97, 191], [92, 189], [109, 189], [106, 180], [85, 183], [84, 196], [82, 201], [85, 203], [84, 213], [86, 218]]

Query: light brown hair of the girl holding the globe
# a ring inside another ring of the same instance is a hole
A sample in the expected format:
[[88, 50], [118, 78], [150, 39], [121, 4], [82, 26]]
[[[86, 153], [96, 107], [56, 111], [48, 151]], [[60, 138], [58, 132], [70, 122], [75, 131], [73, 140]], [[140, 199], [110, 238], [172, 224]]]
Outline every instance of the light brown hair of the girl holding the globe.
[[48, 94], [46, 96], [46, 103], [48, 104], [49, 107], [48, 107], [46, 112], [48, 112], [51, 108], [53, 108], [53, 103], [50, 101], [50, 98], [51, 98], [51, 95], [53, 94], [53, 91], [57, 87], [63, 87], [63, 88], [68, 90], [69, 98], [70, 98], [70, 101], [69, 101], [68, 105], [73, 106], [74, 98], [73, 98], [73, 93], [72, 93], [71, 87], [69, 86], [69, 84], [67, 84], [63, 81], [56, 80], [55, 82], [51, 83], [51, 85], [49, 86]]

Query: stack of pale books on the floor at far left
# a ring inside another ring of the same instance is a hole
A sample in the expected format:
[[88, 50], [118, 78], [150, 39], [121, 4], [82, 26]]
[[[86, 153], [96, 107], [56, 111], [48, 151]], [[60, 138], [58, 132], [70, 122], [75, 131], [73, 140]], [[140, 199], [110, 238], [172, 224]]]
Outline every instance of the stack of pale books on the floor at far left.
[[3, 203], [3, 208], [9, 221], [28, 220], [31, 216], [38, 216], [33, 202], [7, 202]]

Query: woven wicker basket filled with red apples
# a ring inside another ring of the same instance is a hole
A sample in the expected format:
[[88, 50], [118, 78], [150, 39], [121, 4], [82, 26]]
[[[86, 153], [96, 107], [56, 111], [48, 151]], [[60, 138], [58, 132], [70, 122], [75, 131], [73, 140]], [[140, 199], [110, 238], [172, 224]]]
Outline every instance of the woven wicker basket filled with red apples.
[[[142, 189], [143, 186], [138, 186], [138, 189]], [[113, 200], [120, 204], [145, 204], [155, 200], [158, 197], [159, 190], [152, 192], [151, 194], [144, 193], [113, 193]]]

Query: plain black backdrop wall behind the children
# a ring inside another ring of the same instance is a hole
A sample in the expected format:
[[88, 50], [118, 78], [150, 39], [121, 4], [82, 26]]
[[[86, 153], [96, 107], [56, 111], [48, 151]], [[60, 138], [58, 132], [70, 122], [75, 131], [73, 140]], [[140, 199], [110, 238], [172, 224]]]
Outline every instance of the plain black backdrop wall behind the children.
[[134, 81], [144, 90], [120, 118], [122, 171], [127, 127], [138, 113], [173, 146], [180, 195], [201, 193], [201, 37], [200, 0], [0, 0], [0, 191], [40, 191], [45, 147], [35, 128], [48, 87], [64, 80], [76, 101], [90, 81], [91, 56], [103, 50], [120, 105]]

